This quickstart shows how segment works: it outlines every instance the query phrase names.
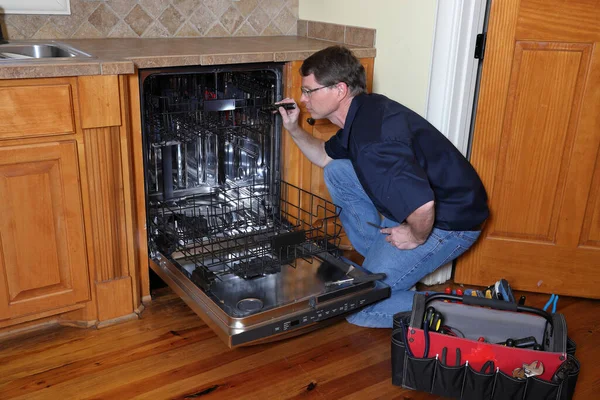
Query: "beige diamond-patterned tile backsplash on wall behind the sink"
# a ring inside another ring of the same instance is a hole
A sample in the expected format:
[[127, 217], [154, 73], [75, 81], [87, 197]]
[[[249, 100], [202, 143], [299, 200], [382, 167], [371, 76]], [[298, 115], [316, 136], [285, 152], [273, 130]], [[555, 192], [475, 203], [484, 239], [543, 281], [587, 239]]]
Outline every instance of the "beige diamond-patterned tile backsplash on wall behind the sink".
[[299, 0], [71, 0], [71, 15], [0, 15], [9, 39], [296, 35]]

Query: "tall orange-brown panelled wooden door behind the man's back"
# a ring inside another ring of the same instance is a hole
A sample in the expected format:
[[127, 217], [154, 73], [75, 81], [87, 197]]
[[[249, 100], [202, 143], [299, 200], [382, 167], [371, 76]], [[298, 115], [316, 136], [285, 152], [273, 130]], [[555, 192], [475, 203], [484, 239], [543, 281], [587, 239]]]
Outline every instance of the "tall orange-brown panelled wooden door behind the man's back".
[[490, 197], [455, 280], [600, 298], [600, 1], [493, 1], [471, 161]]

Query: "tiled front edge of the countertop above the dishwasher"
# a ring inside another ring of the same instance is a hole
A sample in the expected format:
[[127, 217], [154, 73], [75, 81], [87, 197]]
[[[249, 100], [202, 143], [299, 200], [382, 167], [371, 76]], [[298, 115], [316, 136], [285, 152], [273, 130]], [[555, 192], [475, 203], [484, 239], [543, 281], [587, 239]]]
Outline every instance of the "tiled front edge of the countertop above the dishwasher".
[[[179, 67], [193, 65], [226, 65], [256, 62], [287, 62], [304, 60], [316, 50], [282, 50], [275, 52], [235, 52], [216, 54], [182, 54], [163, 56], [138, 56], [125, 60], [103, 60], [79, 62], [36, 61], [35, 64], [0, 64], [0, 79], [52, 78], [84, 75], [129, 75], [135, 69]], [[375, 57], [375, 48], [353, 48], [357, 57]]]

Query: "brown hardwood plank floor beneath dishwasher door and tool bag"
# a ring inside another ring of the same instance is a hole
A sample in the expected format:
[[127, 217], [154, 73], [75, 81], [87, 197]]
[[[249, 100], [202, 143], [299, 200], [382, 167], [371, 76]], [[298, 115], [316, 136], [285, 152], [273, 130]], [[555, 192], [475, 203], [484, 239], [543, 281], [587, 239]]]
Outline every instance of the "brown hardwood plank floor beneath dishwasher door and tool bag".
[[[527, 305], [547, 298], [527, 294]], [[582, 364], [575, 399], [598, 398], [600, 302], [561, 298], [558, 311]], [[140, 320], [0, 339], [0, 399], [439, 399], [391, 384], [390, 332], [341, 321], [229, 350], [164, 288]]]

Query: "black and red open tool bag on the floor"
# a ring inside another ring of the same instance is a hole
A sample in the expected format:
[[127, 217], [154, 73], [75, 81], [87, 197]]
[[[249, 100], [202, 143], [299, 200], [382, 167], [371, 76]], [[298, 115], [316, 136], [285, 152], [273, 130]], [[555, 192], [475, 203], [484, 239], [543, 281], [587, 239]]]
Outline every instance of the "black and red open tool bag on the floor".
[[562, 314], [480, 297], [417, 294], [412, 312], [394, 316], [396, 386], [456, 399], [567, 400], [579, 368]]

